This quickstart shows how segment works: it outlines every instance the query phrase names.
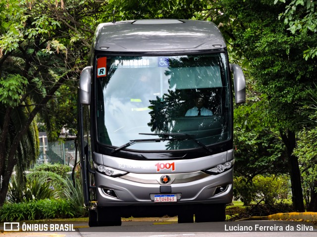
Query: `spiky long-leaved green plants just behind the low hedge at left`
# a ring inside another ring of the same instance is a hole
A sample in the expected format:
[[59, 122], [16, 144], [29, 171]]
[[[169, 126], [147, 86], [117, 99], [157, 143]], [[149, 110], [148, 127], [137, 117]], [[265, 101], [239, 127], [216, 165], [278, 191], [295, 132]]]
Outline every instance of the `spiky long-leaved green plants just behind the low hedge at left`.
[[12, 203], [30, 200], [40, 200], [57, 197], [56, 190], [51, 188], [51, 182], [40, 177], [27, 181], [26, 185], [16, 181], [12, 176], [12, 182], [8, 190], [8, 201]]

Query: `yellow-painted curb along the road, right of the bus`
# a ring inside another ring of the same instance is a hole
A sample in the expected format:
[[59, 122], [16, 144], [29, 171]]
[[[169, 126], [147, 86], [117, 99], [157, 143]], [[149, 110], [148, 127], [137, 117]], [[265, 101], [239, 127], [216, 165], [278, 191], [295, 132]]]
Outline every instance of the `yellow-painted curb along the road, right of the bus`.
[[317, 212], [288, 212], [277, 213], [269, 216], [253, 216], [249, 218], [243, 218], [238, 221], [269, 221], [269, 220], [304, 220], [317, 222]]

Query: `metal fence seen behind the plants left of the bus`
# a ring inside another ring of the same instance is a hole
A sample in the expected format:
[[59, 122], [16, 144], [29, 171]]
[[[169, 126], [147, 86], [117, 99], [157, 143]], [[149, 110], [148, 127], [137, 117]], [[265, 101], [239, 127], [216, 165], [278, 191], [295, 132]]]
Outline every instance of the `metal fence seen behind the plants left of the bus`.
[[[36, 164], [50, 163], [63, 164], [74, 167], [75, 163], [75, 142], [40, 142], [40, 154]], [[79, 157], [77, 151], [77, 157]]]

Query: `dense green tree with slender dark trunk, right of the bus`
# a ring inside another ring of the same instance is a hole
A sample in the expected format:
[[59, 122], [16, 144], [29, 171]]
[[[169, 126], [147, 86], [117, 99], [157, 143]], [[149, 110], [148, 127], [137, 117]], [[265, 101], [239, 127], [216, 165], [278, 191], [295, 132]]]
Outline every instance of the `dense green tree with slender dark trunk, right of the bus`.
[[222, 4], [228, 22], [220, 30], [230, 36], [232, 47], [250, 61], [250, 74], [267, 99], [267, 103], [259, 100], [254, 106], [255, 115], [244, 122], [257, 129], [252, 118], [260, 116], [263, 127], [279, 132], [287, 150], [294, 209], [304, 211], [298, 157], [293, 154], [303, 117], [295, 111], [298, 102], [307, 98], [305, 87], [316, 78], [316, 61], [305, 61], [302, 52], [316, 42], [317, 36], [290, 35], [283, 22], [277, 20], [284, 6], [270, 0], [225, 0]]

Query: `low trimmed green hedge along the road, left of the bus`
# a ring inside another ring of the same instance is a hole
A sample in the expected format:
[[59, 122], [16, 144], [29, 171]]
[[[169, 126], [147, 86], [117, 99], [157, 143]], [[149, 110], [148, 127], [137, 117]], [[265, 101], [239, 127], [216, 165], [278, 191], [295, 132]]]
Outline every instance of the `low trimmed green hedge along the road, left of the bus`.
[[21, 203], [5, 203], [0, 209], [0, 221], [32, 221], [75, 216], [66, 199], [42, 199]]

